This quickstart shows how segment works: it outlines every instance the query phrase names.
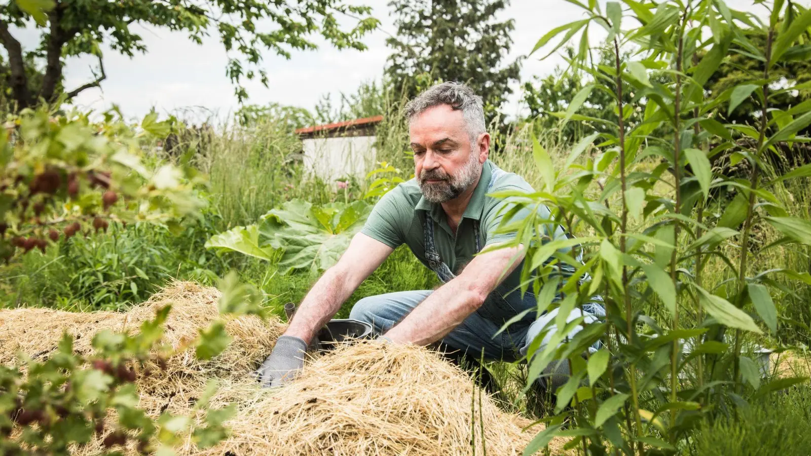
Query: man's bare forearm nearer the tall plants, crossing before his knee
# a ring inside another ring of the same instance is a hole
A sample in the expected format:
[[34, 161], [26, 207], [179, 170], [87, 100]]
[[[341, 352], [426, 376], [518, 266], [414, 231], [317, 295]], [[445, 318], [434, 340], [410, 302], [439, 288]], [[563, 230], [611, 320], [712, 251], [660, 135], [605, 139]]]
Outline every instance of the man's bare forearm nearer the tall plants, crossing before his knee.
[[484, 303], [523, 257], [522, 247], [500, 248], [476, 256], [461, 274], [431, 293], [385, 336], [393, 342], [417, 345], [444, 338]]

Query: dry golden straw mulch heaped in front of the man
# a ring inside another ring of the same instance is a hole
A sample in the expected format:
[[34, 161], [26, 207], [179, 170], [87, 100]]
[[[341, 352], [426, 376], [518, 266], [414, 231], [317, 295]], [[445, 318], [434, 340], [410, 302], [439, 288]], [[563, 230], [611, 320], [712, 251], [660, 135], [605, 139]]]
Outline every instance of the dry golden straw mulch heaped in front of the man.
[[[217, 318], [218, 297], [216, 289], [176, 282], [126, 314], [0, 311], [0, 363], [13, 362], [18, 350], [44, 358], [66, 330], [75, 336], [76, 350], [86, 353], [97, 331], [135, 330], [167, 303], [172, 312], [165, 342], [178, 346]], [[473, 422], [476, 453], [482, 454], [486, 445], [489, 454], [508, 455], [521, 454], [540, 430], [521, 432], [530, 422], [504, 413], [486, 394], [479, 410], [478, 389], [477, 404], [471, 407], [475, 387], [470, 377], [422, 347], [376, 342], [343, 346], [311, 359], [290, 385], [261, 389], [251, 373], [284, 326], [245, 316], [230, 320], [226, 329], [234, 340], [216, 358], [200, 362], [187, 351], [170, 358], [165, 372], [139, 377], [139, 407], [153, 416], [168, 411], [192, 415], [202, 424], [204, 412], [193, 407], [210, 379], [219, 381], [211, 407], [237, 404], [237, 415], [227, 422], [232, 432], [226, 441], [203, 450], [187, 438], [178, 454], [454, 456], [473, 453]], [[77, 453], [100, 453], [99, 441]], [[552, 454], [561, 454], [564, 443], [553, 441]], [[127, 448], [127, 454], [135, 449]]]

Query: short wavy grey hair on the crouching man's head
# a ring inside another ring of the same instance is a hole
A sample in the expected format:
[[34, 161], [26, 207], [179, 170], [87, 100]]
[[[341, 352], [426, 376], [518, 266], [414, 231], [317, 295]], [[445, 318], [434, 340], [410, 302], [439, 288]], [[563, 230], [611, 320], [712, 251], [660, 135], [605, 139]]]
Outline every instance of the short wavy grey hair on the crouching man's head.
[[420, 93], [405, 105], [405, 118], [411, 122], [428, 108], [440, 105], [449, 105], [453, 110], [461, 110], [471, 142], [487, 131], [484, 125], [482, 97], [476, 95], [473, 89], [465, 84], [455, 82], [435, 84]]

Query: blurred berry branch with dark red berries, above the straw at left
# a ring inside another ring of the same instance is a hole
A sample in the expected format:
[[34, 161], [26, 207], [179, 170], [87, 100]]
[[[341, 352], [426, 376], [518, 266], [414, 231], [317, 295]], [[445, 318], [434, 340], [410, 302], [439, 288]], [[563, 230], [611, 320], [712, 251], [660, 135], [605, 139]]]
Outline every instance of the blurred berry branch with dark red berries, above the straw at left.
[[142, 141], [169, 131], [148, 114], [136, 129], [114, 111], [89, 114], [24, 110], [0, 131], [0, 256], [42, 252], [60, 239], [107, 230], [116, 222], [179, 227], [198, 211], [200, 181], [188, 166], [146, 159]]

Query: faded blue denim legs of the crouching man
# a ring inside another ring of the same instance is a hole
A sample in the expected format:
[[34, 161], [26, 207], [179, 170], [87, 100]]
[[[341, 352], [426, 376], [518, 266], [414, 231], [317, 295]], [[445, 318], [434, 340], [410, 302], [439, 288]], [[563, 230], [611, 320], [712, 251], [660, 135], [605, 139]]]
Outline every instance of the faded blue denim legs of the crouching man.
[[[355, 303], [350, 312], [350, 318], [367, 321], [375, 326], [376, 331], [385, 333], [417, 307], [418, 303], [423, 302], [428, 295], [431, 295], [431, 292], [431, 290], [398, 291], [385, 295], [369, 296]], [[551, 312], [539, 316], [537, 320], [531, 323], [519, 321], [495, 338], [493, 338], [493, 335], [498, 332], [501, 325], [483, 317], [478, 311], [473, 312], [461, 322], [461, 325], [448, 333], [441, 342], [455, 350], [470, 353], [470, 355], [477, 358], [483, 351], [485, 359], [515, 361], [526, 356], [530, 343], [541, 333], [547, 323], [555, 320], [557, 312], [558, 309], [555, 308]], [[575, 308], [566, 321], [574, 320], [579, 316], [581, 316], [581, 311], [579, 308]], [[592, 323], [595, 320], [597, 320], [597, 316], [586, 312], [586, 323]], [[549, 328], [551, 330], [546, 333], [543, 342], [541, 342], [541, 350], [547, 345], [552, 334], [555, 333], [554, 323], [549, 325]], [[569, 333], [569, 337], [573, 337], [581, 329], [581, 326], [577, 326]]]

